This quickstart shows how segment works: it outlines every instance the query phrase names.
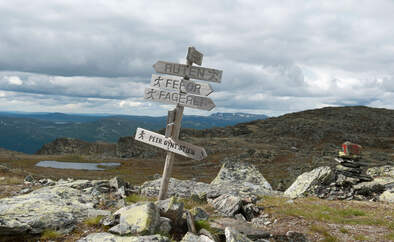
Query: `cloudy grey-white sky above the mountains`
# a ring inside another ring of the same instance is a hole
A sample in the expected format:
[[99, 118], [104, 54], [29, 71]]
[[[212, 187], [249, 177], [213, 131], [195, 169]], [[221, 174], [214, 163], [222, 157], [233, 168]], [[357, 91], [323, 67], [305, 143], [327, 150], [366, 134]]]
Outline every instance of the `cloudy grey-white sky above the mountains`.
[[216, 107], [185, 114], [394, 109], [393, 13], [392, 0], [0, 0], [0, 111], [166, 115], [144, 89], [189, 46], [223, 76]]

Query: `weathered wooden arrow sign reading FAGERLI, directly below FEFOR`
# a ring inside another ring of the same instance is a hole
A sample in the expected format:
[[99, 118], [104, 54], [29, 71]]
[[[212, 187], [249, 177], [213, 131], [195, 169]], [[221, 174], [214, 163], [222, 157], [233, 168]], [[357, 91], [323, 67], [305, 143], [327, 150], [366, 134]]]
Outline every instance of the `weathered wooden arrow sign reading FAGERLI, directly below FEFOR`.
[[144, 98], [155, 102], [180, 104], [185, 107], [211, 110], [215, 107], [208, 97], [196, 96], [182, 92], [174, 92], [156, 88], [145, 88]]

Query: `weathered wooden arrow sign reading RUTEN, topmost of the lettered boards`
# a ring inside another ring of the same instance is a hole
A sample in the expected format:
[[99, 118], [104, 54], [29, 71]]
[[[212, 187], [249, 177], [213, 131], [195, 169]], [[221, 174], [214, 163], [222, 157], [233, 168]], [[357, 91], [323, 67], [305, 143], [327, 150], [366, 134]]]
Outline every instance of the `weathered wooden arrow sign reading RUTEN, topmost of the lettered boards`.
[[158, 61], [153, 65], [153, 68], [158, 73], [189, 77], [192, 79], [205, 80], [211, 82], [219, 82], [222, 80], [223, 71], [192, 66], [192, 65], [183, 65], [178, 63], [166, 62], [166, 61]]

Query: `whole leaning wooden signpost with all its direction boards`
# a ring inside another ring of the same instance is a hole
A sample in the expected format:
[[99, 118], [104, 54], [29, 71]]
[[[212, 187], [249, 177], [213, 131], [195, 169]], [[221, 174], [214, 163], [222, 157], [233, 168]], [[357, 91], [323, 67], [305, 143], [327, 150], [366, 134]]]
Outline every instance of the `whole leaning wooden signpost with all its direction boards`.
[[137, 128], [135, 140], [162, 148], [167, 151], [161, 179], [159, 200], [167, 198], [168, 183], [171, 177], [175, 154], [195, 160], [207, 157], [204, 148], [178, 140], [184, 107], [211, 110], [213, 101], [206, 97], [213, 92], [207, 83], [199, 83], [190, 78], [220, 83], [221, 70], [193, 66], [202, 64], [203, 54], [194, 47], [189, 47], [186, 65], [158, 61], [153, 65], [156, 72], [168, 75], [152, 75], [151, 86], [145, 89], [144, 98], [155, 102], [176, 104], [174, 110], [168, 111], [165, 135]]

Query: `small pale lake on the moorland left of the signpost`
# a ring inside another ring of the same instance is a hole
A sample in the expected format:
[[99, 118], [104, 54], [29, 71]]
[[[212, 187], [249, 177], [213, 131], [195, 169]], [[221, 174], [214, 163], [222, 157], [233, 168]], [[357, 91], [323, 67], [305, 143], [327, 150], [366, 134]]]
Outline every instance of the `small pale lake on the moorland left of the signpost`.
[[36, 164], [40, 167], [58, 168], [58, 169], [76, 169], [76, 170], [92, 170], [92, 171], [103, 171], [105, 170], [99, 166], [106, 166], [108, 168], [120, 166], [118, 162], [112, 163], [83, 163], [83, 162], [61, 162], [53, 160], [44, 160]]

